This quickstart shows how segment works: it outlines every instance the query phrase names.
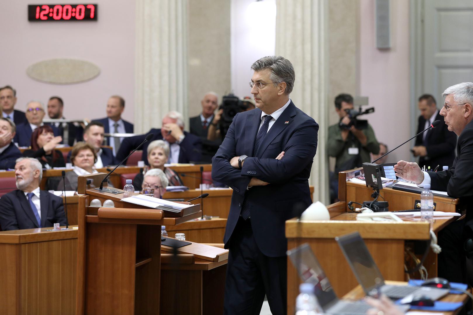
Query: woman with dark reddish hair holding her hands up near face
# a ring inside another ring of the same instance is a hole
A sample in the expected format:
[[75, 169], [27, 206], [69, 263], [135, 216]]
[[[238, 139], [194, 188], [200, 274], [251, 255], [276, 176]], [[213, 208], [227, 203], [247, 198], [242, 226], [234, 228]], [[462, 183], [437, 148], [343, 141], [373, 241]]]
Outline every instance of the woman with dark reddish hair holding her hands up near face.
[[54, 136], [51, 126], [40, 126], [31, 134], [31, 149], [25, 150], [23, 156], [38, 159], [44, 169], [65, 167], [61, 151], [54, 150], [61, 141], [62, 137]]

